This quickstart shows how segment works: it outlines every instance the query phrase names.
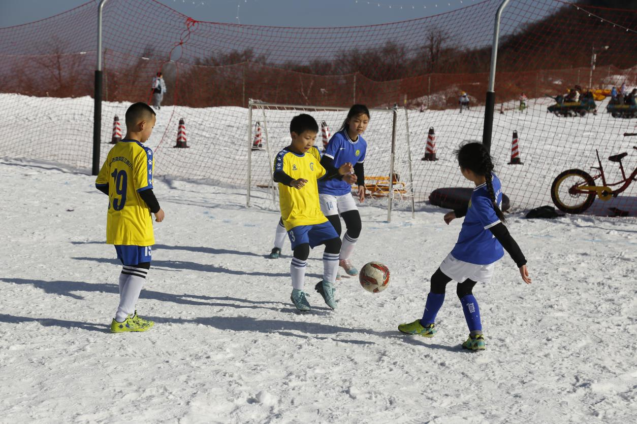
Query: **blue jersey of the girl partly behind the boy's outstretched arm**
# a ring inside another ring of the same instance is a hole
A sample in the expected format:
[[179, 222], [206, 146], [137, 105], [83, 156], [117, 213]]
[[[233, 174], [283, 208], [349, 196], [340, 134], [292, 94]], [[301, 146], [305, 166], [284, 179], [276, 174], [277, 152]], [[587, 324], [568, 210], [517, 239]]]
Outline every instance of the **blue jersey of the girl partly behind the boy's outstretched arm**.
[[[335, 133], [323, 156], [333, 160], [332, 165], [340, 168], [343, 163], [352, 165], [363, 163], [367, 153], [367, 142], [359, 135], [358, 140], [352, 141], [347, 134], [347, 128]], [[321, 195], [343, 196], [352, 193], [352, 186], [342, 179], [334, 178], [327, 181], [318, 181], [318, 193]]]

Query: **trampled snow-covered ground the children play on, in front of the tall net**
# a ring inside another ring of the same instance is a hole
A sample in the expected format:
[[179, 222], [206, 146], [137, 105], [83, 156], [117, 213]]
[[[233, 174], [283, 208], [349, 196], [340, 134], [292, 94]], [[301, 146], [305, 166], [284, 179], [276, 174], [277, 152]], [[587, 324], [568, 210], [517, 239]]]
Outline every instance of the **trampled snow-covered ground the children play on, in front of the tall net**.
[[[524, 151], [523, 151], [524, 152]], [[158, 164], [158, 167], [161, 165]], [[269, 260], [274, 210], [240, 190], [155, 179], [166, 220], [141, 334], [110, 334], [120, 266], [104, 244], [94, 177], [0, 161], [0, 421], [3, 423], [629, 423], [637, 416], [633, 218], [510, 215], [529, 261], [478, 285], [487, 350], [464, 352], [450, 287], [433, 339], [396, 325], [422, 314], [428, 279], [461, 222], [361, 207], [355, 263], [382, 261], [386, 291], [338, 284], [336, 311], [289, 301], [289, 247]], [[257, 193], [263, 196], [261, 193]], [[257, 202], [258, 203], [258, 202]], [[265, 203], [265, 201], [264, 201]], [[288, 245], [289, 246], [289, 245]], [[310, 289], [322, 250], [308, 261]]]

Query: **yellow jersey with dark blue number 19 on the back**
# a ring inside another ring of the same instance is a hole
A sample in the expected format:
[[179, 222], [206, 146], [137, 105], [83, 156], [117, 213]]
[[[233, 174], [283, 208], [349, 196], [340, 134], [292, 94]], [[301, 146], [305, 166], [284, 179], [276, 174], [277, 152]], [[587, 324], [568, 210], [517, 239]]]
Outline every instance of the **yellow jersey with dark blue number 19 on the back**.
[[140, 191], [153, 188], [153, 151], [136, 140], [115, 144], [99, 170], [96, 187], [108, 184], [106, 243], [150, 246], [155, 244], [150, 208]]

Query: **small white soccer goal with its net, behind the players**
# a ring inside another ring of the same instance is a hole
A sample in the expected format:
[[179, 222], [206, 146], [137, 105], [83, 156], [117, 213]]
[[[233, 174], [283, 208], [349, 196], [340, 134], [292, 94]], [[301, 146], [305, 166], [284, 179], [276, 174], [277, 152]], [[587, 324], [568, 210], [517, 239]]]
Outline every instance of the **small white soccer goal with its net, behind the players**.
[[[252, 100], [248, 103], [248, 177], [246, 205], [252, 191], [268, 193], [278, 206], [278, 184], [273, 182], [276, 154], [290, 144], [290, 121], [299, 113], [317, 120], [319, 132], [315, 146], [323, 153], [331, 135], [341, 129], [347, 107], [273, 104]], [[387, 222], [392, 207], [414, 213], [412, 153], [407, 114], [398, 107], [369, 109], [371, 119], [363, 137], [368, 142], [365, 158], [366, 202], [387, 205]], [[259, 197], [262, 198], [263, 196]]]

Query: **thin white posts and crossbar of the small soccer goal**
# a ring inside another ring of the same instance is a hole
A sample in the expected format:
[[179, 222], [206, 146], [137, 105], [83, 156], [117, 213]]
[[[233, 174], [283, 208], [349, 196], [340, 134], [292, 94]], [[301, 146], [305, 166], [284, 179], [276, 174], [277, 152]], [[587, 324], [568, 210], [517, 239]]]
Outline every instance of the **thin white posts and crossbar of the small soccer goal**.
[[[349, 111], [348, 107], [336, 107], [336, 106], [314, 106], [314, 105], [294, 105], [294, 104], [278, 104], [278, 103], [268, 103], [268, 102], [262, 102], [261, 100], [254, 100], [254, 99], [249, 99], [248, 101], [248, 125], [247, 125], [247, 129], [248, 129], [248, 139], [247, 139], [247, 147], [248, 147], [248, 178], [247, 178], [247, 182], [246, 182], [246, 206], [250, 207], [250, 189], [252, 188], [252, 114], [253, 114], [253, 110], [254, 111], [259, 111], [261, 110], [262, 113], [262, 117], [259, 118], [259, 120], [262, 119], [263, 121], [263, 130], [264, 133], [266, 135], [266, 151], [268, 153], [268, 161], [269, 163], [274, 163], [274, 157], [273, 154], [276, 152], [271, 152], [270, 151], [270, 147], [269, 147], [269, 139], [268, 139], [268, 121], [266, 118], [266, 113], [265, 111], [268, 109], [274, 109], [274, 110], [292, 110], [292, 111], [300, 111], [300, 112], [309, 112], [311, 113], [311, 111], [343, 111], [343, 112], [347, 112]], [[394, 175], [394, 160], [396, 158], [396, 122], [397, 122], [397, 114], [399, 109], [404, 109], [404, 108], [399, 108], [397, 106], [394, 107], [386, 107], [386, 108], [370, 108], [369, 111], [375, 111], [375, 112], [383, 112], [383, 113], [388, 113], [391, 112], [392, 113], [392, 143], [391, 143], [391, 150], [390, 150], [390, 161], [389, 161], [389, 193], [387, 193], [387, 222], [391, 222], [391, 217], [392, 217], [392, 203], [393, 203], [393, 199], [394, 199], [394, 179], [392, 178], [392, 175]], [[407, 110], [404, 109], [404, 113], [405, 113], [405, 117], [407, 118]], [[408, 161], [409, 161], [409, 182], [408, 182], [408, 189], [410, 192], [410, 196], [412, 198], [411, 200], [411, 209], [412, 209], [412, 217], [415, 216], [415, 205], [414, 205], [414, 193], [413, 193], [413, 176], [412, 176], [412, 155], [411, 155], [411, 146], [410, 146], [410, 140], [409, 140], [409, 122], [408, 120], [406, 120], [406, 143], [408, 146]], [[272, 177], [273, 177], [273, 167], [269, 167], [269, 172], [270, 172], [270, 181], [272, 181]], [[272, 182], [271, 185], [272, 188], [272, 196], [273, 196], [273, 201], [276, 203], [276, 184], [274, 182]]]

